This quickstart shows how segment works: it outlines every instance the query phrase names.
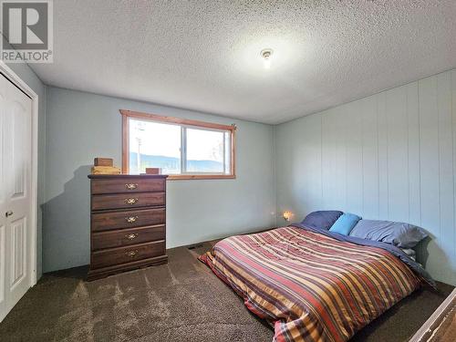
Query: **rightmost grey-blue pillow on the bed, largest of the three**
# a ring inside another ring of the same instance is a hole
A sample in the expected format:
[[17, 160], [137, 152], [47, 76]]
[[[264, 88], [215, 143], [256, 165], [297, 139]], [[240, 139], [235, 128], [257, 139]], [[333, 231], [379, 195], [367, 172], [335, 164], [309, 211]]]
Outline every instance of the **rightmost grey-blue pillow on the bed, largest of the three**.
[[359, 220], [349, 235], [394, 244], [400, 248], [413, 248], [428, 236], [413, 224], [376, 220]]

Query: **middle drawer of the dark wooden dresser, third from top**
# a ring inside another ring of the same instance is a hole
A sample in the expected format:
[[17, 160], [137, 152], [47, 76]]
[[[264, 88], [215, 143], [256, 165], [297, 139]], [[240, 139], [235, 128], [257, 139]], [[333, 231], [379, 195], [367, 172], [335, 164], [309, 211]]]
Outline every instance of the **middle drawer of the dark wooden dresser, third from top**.
[[166, 223], [165, 221], [165, 208], [121, 212], [93, 212], [91, 215], [92, 232], [164, 224]]

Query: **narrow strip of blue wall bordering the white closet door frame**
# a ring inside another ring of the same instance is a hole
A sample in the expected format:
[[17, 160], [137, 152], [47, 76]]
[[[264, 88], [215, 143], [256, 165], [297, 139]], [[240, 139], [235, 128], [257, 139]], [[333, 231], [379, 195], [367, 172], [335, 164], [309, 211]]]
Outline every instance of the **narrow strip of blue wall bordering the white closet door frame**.
[[46, 89], [47, 87], [36, 77], [35, 72], [26, 64], [8, 64], [19, 78], [28, 87], [32, 88], [38, 96], [38, 212], [37, 212], [37, 233], [36, 233], [36, 278], [42, 274], [42, 210], [41, 205], [45, 200], [45, 155], [46, 155]]

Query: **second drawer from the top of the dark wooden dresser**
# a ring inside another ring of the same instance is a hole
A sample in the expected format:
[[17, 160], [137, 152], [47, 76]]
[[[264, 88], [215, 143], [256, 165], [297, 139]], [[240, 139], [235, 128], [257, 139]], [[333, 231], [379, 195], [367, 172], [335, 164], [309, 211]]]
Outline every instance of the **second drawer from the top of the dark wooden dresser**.
[[165, 192], [116, 193], [92, 196], [92, 210], [148, 207], [165, 204]]

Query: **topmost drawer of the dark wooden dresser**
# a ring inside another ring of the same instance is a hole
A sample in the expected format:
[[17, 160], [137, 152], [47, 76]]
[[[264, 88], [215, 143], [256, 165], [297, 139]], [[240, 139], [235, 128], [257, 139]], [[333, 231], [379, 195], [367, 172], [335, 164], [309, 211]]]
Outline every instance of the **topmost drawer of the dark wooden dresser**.
[[164, 192], [165, 180], [124, 179], [92, 180], [92, 194], [119, 192]]

